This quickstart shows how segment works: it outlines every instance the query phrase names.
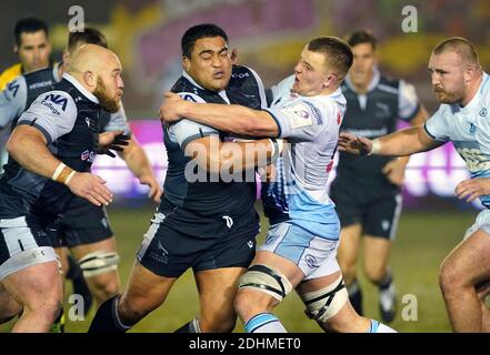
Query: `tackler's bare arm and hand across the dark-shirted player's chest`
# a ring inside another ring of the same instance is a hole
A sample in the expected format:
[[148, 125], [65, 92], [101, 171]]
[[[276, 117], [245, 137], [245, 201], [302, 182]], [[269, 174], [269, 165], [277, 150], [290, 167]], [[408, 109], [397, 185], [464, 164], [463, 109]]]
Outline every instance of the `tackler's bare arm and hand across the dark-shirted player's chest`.
[[186, 118], [237, 135], [277, 138], [279, 134], [278, 124], [267, 111], [236, 104], [196, 103], [172, 92], [163, 94], [159, 114], [168, 123]]

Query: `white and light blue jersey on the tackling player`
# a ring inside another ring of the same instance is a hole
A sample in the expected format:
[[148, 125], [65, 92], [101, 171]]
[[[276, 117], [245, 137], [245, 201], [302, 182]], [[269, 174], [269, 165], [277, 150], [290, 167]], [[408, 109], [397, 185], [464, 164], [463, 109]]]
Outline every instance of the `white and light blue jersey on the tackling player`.
[[[276, 182], [269, 184], [264, 207], [288, 214], [290, 220], [319, 236], [338, 239], [338, 217], [327, 193], [339, 126], [346, 112], [341, 90], [330, 95], [301, 97], [290, 92], [291, 78], [272, 91], [267, 110], [277, 121], [279, 138], [290, 145], [277, 162]], [[273, 214], [269, 213], [271, 223]], [[323, 227], [326, 224], [333, 229]]]

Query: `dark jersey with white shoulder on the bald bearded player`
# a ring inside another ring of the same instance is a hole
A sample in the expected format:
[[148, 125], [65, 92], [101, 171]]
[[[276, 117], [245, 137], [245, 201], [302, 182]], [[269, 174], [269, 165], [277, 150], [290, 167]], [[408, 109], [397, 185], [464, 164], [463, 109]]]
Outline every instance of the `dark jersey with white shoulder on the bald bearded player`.
[[[97, 98], [64, 74], [51, 91], [34, 100], [18, 124], [39, 129], [54, 156], [76, 171], [88, 172], [96, 156], [99, 115]], [[72, 196], [66, 185], [29, 172], [10, 159], [0, 180], [0, 217], [32, 212], [56, 217]]]

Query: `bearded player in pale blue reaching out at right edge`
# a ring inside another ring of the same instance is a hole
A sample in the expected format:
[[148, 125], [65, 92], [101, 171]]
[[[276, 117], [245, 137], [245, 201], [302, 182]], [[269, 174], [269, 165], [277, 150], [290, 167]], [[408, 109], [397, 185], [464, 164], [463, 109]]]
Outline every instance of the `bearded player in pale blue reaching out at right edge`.
[[[446, 257], [439, 282], [456, 332], [490, 332], [490, 77], [473, 45], [463, 38], [440, 43], [429, 60], [439, 110], [424, 123], [376, 140], [343, 133], [339, 149], [357, 154], [404, 156], [453, 142], [471, 178], [456, 195], [483, 210], [463, 241]], [[416, 261], [417, 262], [417, 261]]]

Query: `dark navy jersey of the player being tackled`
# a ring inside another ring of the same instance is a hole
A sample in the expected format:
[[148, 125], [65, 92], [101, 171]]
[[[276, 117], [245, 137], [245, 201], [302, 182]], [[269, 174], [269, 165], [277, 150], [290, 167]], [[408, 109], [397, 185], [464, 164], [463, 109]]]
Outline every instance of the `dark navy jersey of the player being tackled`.
[[[186, 100], [196, 102], [241, 104], [251, 109], [267, 105], [260, 78], [249, 68], [241, 65], [233, 65], [226, 92], [204, 90], [187, 73], [177, 81], [172, 91], [180, 93]], [[163, 185], [166, 201], [162, 204], [170, 202], [171, 205], [203, 216], [247, 213], [256, 201], [254, 183], [223, 182], [210, 174], [207, 174], [206, 182], [189, 182], [186, 179], [186, 165], [190, 162], [190, 158], [183, 154], [186, 145], [192, 140], [211, 134], [219, 135], [222, 141], [232, 139], [228, 134], [189, 120], [163, 126], [169, 164]]]

